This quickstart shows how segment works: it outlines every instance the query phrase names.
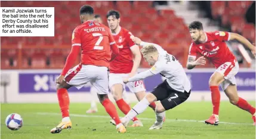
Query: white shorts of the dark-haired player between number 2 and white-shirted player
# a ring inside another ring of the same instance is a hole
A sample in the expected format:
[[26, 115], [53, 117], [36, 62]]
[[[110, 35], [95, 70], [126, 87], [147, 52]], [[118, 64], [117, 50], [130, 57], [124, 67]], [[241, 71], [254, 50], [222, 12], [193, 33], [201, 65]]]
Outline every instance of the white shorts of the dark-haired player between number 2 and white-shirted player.
[[[125, 90], [125, 84], [123, 82], [123, 78], [128, 77], [128, 73], [110, 73], [109, 74], [109, 88], [111, 88], [115, 84], [122, 84]], [[135, 82], [128, 82], [127, 87], [131, 92], [140, 92], [146, 91], [143, 81], [135, 81]]]

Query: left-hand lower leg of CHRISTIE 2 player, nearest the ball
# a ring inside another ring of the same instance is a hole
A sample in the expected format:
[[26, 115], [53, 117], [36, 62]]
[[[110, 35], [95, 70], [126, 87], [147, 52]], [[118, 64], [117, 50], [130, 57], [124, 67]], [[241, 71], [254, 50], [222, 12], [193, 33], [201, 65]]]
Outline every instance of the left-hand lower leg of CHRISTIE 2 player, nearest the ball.
[[67, 93], [67, 89], [72, 87], [71, 85], [64, 82], [62, 85], [57, 84], [57, 96], [58, 96], [58, 104], [60, 105], [60, 110], [62, 113], [62, 121], [53, 129], [51, 129], [51, 133], [59, 133], [62, 129], [71, 129], [72, 123], [69, 118], [69, 94]]

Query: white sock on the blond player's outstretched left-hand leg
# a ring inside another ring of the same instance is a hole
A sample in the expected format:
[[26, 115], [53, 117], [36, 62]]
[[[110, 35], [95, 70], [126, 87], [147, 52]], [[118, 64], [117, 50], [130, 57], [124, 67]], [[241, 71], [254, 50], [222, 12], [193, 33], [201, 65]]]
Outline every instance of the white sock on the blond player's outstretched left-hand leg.
[[147, 101], [146, 97], [144, 97], [140, 102], [138, 102], [124, 117], [125, 122], [130, 121], [132, 118], [134, 118], [136, 115], [143, 113], [144, 110], [147, 109], [149, 106], [149, 101]]

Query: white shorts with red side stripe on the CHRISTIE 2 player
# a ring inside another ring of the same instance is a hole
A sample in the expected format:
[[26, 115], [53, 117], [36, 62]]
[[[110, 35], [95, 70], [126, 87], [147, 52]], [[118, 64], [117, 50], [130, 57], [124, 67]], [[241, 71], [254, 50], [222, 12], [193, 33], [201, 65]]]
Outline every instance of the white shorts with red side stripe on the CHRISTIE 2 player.
[[72, 85], [78, 89], [82, 88], [88, 82], [91, 83], [98, 94], [109, 93], [109, 71], [107, 67], [99, 67], [93, 65], [82, 65], [70, 69], [65, 76], [67, 84]]

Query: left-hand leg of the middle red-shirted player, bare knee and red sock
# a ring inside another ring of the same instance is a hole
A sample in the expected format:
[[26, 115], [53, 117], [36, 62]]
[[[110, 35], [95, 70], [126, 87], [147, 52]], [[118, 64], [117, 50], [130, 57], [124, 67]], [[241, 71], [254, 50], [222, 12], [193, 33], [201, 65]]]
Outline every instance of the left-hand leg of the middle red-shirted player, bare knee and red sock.
[[[122, 92], [123, 92], [123, 85], [122, 84], [115, 84], [111, 88], [113, 98], [116, 101], [116, 104], [118, 105], [118, 108], [125, 114], [131, 110], [131, 107], [125, 102], [125, 100], [122, 98]], [[134, 117], [132, 118], [132, 121], [137, 121], [138, 118]], [[110, 121], [111, 123], [115, 124], [113, 121]]]

